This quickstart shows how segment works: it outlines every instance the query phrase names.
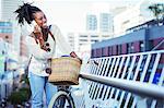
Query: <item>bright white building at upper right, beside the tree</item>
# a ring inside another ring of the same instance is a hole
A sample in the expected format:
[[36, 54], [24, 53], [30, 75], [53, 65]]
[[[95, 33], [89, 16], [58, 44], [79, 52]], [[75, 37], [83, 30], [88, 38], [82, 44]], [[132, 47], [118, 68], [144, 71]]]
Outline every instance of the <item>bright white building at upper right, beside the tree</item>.
[[140, 1], [136, 5], [130, 5], [126, 11], [115, 15], [114, 17], [114, 33], [115, 36], [120, 36], [126, 33], [126, 29], [151, 21], [153, 14], [148, 10], [148, 7], [152, 4], [151, 0]]

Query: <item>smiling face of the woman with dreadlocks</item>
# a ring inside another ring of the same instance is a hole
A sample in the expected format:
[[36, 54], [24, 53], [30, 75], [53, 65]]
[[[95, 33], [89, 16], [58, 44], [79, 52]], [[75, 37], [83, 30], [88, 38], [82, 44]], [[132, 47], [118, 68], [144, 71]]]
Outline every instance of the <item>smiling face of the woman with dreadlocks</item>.
[[44, 12], [39, 11], [34, 13], [34, 20], [40, 27], [47, 27], [47, 19]]

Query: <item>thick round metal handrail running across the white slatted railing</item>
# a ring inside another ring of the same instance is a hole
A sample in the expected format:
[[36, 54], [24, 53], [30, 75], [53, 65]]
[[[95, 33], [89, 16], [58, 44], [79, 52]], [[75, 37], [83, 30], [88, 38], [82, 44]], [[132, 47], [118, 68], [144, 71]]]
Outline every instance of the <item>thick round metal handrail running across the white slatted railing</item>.
[[80, 75], [83, 79], [114, 86], [120, 89], [129, 91], [141, 96], [153, 97], [156, 99], [164, 99], [164, 87], [162, 86], [134, 81], [117, 80], [114, 77], [97, 76], [85, 73]]

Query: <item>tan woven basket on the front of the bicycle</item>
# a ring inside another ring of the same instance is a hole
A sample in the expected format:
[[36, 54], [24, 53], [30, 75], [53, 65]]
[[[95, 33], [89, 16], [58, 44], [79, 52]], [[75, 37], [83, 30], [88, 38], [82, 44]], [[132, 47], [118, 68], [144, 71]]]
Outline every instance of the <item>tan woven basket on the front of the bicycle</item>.
[[78, 85], [80, 68], [80, 60], [75, 58], [62, 57], [52, 59], [51, 74], [48, 81], [56, 85]]

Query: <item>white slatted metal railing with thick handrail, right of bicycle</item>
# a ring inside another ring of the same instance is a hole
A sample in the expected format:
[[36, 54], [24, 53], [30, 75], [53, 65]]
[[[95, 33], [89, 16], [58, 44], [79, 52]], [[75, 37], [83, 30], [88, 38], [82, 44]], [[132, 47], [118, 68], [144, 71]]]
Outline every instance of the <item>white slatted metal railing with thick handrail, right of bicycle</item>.
[[79, 108], [163, 108], [163, 65], [164, 50], [91, 59], [81, 70]]

